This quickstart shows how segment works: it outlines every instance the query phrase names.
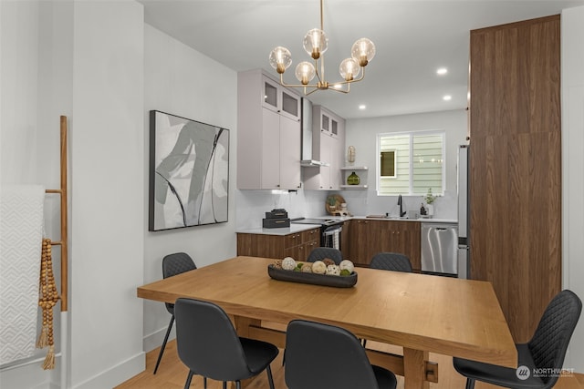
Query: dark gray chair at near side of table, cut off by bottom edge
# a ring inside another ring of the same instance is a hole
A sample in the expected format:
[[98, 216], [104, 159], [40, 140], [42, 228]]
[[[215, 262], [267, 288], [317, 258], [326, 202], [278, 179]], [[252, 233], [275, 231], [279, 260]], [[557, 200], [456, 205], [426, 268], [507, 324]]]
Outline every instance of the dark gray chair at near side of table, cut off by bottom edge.
[[329, 324], [294, 320], [286, 333], [288, 389], [395, 389], [395, 374], [371, 365], [359, 339]]

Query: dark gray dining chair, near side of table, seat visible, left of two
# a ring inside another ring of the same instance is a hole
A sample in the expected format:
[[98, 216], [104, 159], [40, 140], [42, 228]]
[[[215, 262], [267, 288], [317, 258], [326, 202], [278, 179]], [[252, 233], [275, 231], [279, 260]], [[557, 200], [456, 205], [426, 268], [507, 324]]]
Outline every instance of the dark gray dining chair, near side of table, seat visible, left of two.
[[270, 389], [274, 379], [270, 363], [279, 350], [272, 343], [239, 337], [227, 313], [212, 303], [180, 298], [174, 304], [176, 346], [181, 361], [189, 368], [184, 384], [188, 389], [193, 374], [217, 381], [235, 382], [266, 370]]

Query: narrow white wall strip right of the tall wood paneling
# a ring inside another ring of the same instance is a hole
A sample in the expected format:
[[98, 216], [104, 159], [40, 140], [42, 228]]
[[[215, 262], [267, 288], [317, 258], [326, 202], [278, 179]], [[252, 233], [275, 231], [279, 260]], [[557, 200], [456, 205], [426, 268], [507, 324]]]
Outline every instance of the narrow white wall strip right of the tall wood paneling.
[[[584, 6], [564, 10], [561, 23], [563, 289], [584, 299]], [[584, 372], [582, 316], [564, 366]]]

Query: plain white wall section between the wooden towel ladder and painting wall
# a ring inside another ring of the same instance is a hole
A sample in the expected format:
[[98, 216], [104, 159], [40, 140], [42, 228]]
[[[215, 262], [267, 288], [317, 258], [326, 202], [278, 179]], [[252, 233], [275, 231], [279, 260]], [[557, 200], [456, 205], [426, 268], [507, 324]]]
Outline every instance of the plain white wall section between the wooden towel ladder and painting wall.
[[103, 388], [144, 363], [143, 8], [73, 12], [70, 385]]

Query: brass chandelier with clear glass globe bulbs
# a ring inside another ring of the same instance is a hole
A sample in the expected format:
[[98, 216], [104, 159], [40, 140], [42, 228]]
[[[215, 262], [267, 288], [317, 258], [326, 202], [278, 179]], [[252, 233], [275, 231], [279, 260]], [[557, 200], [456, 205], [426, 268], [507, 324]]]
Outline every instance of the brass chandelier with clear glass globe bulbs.
[[[365, 67], [375, 56], [375, 45], [368, 38], [358, 39], [351, 48], [351, 56], [340, 63], [339, 73], [342, 81], [329, 83], [325, 78], [325, 59], [323, 56], [328, 48], [328, 37], [323, 30], [322, 4], [323, 0], [320, 0], [320, 29], [312, 29], [304, 37], [304, 49], [312, 57], [314, 65], [308, 61], [300, 62], [297, 65], [295, 73], [300, 84], [286, 84], [284, 82], [284, 72], [292, 64], [292, 55], [286, 47], [277, 46], [272, 50], [269, 56], [270, 65], [280, 75], [282, 86], [303, 87], [305, 95], [327, 89], [349, 93], [351, 83], [365, 78]], [[320, 68], [319, 71], [318, 68]], [[314, 77], [317, 77], [316, 83], [310, 84]]]

